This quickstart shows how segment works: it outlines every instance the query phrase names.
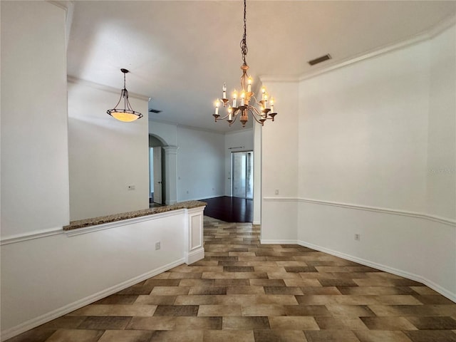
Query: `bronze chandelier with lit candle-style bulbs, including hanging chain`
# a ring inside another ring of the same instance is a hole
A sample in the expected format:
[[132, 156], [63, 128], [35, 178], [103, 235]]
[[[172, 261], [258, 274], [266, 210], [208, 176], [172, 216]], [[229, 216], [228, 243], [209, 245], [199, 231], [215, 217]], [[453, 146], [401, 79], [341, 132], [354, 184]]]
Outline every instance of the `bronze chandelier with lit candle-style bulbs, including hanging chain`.
[[[227, 119], [230, 126], [237, 120], [237, 118], [239, 118], [239, 121], [242, 123], [242, 127], [245, 127], [245, 124], [249, 120], [249, 113], [252, 114], [254, 120], [261, 125], [264, 125], [266, 120], [274, 121], [274, 117], [277, 115], [277, 113], [274, 112], [274, 99], [269, 99], [269, 94], [266, 92], [266, 88], [261, 88], [261, 100], [257, 100], [254, 96], [255, 94], [252, 92], [252, 77], [247, 74], [249, 66], [245, 61], [245, 56], [248, 51], [246, 7], [246, 0], [244, 0], [244, 36], [242, 36], [241, 40], [242, 61], [244, 63], [242, 63], [241, 66], [242, 76], [240, 99], [237, 98], [237, 90], [234, 90], [232, 105], [230, 105], [230, 100], [227, 98], [227, 83], [223, 83], [222, 98], [215, 101], [215, 113], [212, 114], [215, 118], [215, 122], [217, 122], [217, 120]], [[222, 102], [225, 108], [228, 106], [228, 113], [222, 118], [220, 118], [219, 115], [220, 102]]]

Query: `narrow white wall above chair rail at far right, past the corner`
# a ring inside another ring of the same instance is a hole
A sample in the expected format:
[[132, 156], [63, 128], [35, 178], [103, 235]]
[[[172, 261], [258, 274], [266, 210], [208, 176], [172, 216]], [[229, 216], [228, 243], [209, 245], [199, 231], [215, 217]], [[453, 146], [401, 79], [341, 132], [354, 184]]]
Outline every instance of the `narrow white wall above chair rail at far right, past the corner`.
[[427, 211], [456, 218], [456, 29], [430, 43]]

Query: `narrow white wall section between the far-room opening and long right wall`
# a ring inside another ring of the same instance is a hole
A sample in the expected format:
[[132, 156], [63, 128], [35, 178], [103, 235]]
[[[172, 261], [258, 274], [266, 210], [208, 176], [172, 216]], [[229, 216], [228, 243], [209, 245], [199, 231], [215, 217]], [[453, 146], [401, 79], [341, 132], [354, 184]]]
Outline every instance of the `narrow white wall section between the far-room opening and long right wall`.
[[[296, 241], [298, 196], [298, 83], [263, 81], [276, 116], [261, 129], [261, 241]], [[277, 194], [276, 194], [277, 190]]]

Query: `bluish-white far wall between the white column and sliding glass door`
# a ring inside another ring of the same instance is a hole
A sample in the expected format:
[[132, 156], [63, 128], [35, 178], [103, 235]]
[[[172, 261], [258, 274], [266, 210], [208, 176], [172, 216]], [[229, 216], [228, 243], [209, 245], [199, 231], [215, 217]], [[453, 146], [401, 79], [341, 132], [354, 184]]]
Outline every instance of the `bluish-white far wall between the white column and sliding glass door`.
[[224, 135], [177, 127], [177, 201], [224, 194]]

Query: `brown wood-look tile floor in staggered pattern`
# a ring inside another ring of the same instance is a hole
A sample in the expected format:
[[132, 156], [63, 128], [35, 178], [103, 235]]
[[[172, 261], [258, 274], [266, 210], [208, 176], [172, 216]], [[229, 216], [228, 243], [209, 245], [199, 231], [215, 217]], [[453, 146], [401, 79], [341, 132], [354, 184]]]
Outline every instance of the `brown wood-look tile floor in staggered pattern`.
[[456, 304], [416, 281], [210, 217], [204, 249], [9, 342], [456, 342]]

